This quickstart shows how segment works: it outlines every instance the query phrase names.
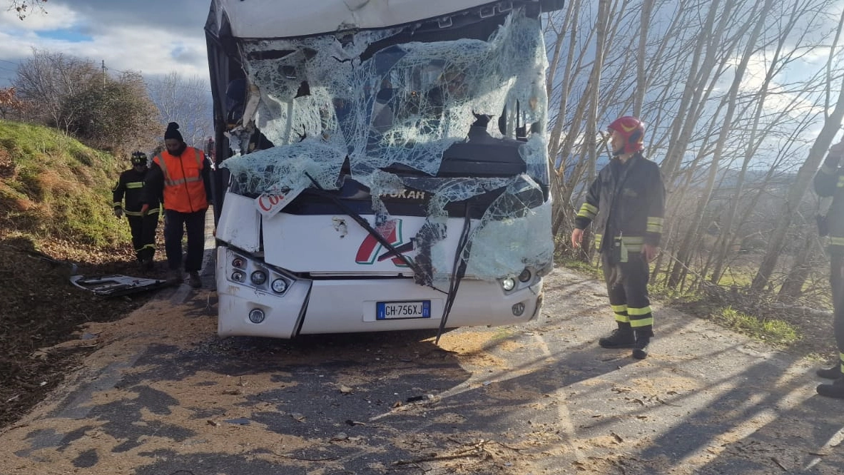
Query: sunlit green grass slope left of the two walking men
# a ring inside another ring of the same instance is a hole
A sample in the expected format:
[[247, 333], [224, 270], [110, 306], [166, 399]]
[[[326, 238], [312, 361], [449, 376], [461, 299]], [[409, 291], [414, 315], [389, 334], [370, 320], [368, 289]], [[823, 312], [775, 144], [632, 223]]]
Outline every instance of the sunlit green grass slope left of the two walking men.
[[111, 212], [111, 186], [125, 168], [54, 129], [0, 121], [2, 237], [125, 242], [127, 225]]

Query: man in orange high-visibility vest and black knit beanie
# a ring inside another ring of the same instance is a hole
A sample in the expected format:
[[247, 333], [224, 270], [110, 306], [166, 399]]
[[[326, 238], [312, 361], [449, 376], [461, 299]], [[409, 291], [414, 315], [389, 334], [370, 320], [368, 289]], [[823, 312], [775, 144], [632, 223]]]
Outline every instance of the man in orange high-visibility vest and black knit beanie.
[[170, 122], [164, 134], [165, 150], [156, 155], [144, 187], [144, 207], [164, 199], [164, 244], [170, 273], [167, 282], [181, 283], [181, 238], [187, 230], [184, 269], [193, 288], [202, 287], [199, 272], [205, 247], [205, 212], [211, 202], [211, 166], [202, 150], [188, 147], [179, 124]]

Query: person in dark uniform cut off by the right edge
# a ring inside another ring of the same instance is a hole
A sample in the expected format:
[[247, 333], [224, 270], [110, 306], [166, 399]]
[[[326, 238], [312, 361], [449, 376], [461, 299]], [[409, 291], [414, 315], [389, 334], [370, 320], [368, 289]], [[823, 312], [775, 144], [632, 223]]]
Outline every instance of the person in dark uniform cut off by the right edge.
[[814, 175], [814, 192], [819, 197], [831, 197], [832, 203], [825, 216], [826, 233], [829, 234], [830, 286], [832, 288], [832, 328], [836, 337], [838, 357], [831, 368], [817, 371], [822, 378], [834, 380], [817, 387], [818, 394], [844, 399], [844, 140], [830, 147], [824, 165]]

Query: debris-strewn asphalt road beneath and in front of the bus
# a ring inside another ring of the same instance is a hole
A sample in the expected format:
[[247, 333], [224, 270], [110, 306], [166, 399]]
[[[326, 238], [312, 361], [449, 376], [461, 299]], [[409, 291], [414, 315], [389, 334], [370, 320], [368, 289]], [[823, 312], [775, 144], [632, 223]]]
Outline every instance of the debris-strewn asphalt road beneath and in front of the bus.
[[90, 330], [100, 349], [0, 434], [0, 474], [844, 472], [844, 401], [811, 364], [653, 306], [640, 361], [598, 348], [603, 285], [565, 269], [537, 321], [439, 347], [220, 340], [213, 292], [168, 289]]

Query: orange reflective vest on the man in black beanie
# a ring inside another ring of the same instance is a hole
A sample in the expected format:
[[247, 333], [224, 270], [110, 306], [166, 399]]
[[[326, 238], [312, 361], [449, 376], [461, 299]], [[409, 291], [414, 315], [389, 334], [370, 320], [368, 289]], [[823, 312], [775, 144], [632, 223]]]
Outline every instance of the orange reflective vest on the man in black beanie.
[[208, 208], [203, 184], [205, 156], [187, 147], [179, 156], [166, 150], [153, 159], [164, 175], [164, 208], [179, 213], [195, 213]]

